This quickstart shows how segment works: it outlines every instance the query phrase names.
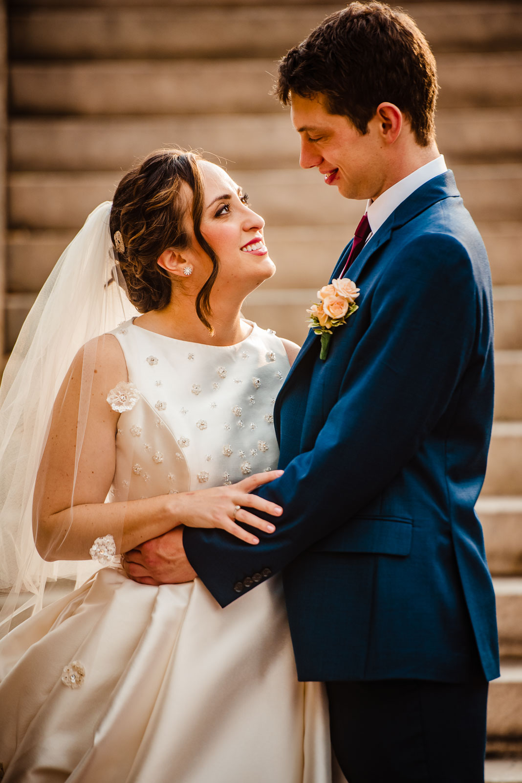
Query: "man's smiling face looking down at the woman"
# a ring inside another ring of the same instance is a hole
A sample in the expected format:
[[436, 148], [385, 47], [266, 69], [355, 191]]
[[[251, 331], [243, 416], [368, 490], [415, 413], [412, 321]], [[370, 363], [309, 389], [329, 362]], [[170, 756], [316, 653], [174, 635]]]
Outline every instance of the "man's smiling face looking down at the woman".
[[[375, 118], [374, 118], [375, 119]], [[345, 198], [368, 199], [380, 193], [384, 152], [374, 121], [362, 135], [341, 114], [329, 114], [324, 96], [291, 94], [291, 121], [301, 136], [302, 168], [318, 168], [327, 185]]]

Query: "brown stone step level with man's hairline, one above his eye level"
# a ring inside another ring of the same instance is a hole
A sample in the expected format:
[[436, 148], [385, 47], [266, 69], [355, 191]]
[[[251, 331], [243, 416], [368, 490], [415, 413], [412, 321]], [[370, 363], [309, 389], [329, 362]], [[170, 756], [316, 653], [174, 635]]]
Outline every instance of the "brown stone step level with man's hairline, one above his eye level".
[[[274, 60], [123, 60], [13, 63], [13, 114], [274, 112]], [[272, 75], [270, 75], [272, 74]], [[519, 106], [522, 52], [442, 54], [438, 105]]]

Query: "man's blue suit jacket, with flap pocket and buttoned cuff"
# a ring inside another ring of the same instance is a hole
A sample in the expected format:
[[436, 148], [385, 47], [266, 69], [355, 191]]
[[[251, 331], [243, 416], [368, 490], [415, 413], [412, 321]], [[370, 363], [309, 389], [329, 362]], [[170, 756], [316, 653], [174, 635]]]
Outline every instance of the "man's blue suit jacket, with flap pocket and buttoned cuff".
[[[339, 259], [340, 274], [351, 245]], [[474, 512], [493, 411], [488, 258], [451, 171], [402, 202], [349, 270], [359, 309], [327, 360], [310, 333], [274, 418], [284, 507], [252, 547], [185, 529], [222, 606], [283, 572], [302, 680], [499, 675]]]

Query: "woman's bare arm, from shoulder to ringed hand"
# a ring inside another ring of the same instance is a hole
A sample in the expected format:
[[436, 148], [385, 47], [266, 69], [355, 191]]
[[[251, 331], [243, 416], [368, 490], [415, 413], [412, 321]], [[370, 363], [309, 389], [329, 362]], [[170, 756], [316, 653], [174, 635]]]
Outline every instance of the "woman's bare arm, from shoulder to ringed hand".
[[[89, 371], [90, 363], [85, 357], [94, 354]], [[256, 536], [236, 525], [235, 506], [247, 505], [276, 516], [281, 514], [274, 503], [248, 494], [256, 486], [276, 478], [277, 471], [249, 476], [227, 487], [120, 503], [104, 502], [116, 467], [116, 429], [120, 417], [106, 398], [109, 390], [127, 377], [120, 344], [116, 337], [105, 335], [78, 353], [63, 381], [34, 490], [34, 540], [41, 557], [48, 561], [88, 559], [95, 539], [106, 535], [115, 539], [116, 551], [126, 552], [177, 525], [220, 527], [247, 543], [257, 543]], [[79, 422], [78, 412], [86, 402], [86, 395], [88, 413], [85, 421], [80, 415]], [[272, 532], [266, 521], [245, 509], [238, 512], [238, 521]]]

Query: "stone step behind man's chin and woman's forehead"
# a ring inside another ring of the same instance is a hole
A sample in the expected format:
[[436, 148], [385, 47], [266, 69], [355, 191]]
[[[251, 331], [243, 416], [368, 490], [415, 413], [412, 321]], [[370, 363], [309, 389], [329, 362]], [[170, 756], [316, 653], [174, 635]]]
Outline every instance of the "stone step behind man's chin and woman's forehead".
[[[481, 220], [519, 221], [522, 164], [459, 165], [459, 190], [471, 215]], [[9, 176], [12, 228], [78, 228], [100, 201], [112, 197], [118, 171], [14, 172]], [[299, 168], [234, 171], [269, 226], [343, 224], [352, 236], [364, 204], [340, 198], [316, 171]]]

